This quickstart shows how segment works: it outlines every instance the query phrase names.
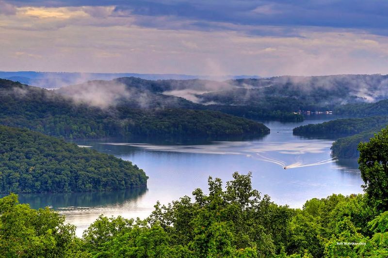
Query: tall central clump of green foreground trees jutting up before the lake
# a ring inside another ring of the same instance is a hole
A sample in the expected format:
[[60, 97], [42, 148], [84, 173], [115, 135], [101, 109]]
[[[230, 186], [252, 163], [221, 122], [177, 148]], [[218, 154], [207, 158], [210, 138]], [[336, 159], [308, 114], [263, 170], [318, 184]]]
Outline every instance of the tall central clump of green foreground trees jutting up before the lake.
[[[275, 255], [281, 246], [274, 239], [286, 232], [286, 226], [274, 224], [287, 224], [292, 212], [267, 196], [261, 198], [252, 189], [251, 174], [235, 173], [233, 177], [226, 190], [220, 179], [209, 178], [209, 195], [196, 189], [194, 202], [183, 197], [167, 206], [157, 203], [145, 221], [117, 223], [116, 219], [100, 217], [85, 231], [85, 246], [97, 257]], [[116, 230], [117, 224], [126, 226]], [[106, 237], [99, 237], [101, 233]]]

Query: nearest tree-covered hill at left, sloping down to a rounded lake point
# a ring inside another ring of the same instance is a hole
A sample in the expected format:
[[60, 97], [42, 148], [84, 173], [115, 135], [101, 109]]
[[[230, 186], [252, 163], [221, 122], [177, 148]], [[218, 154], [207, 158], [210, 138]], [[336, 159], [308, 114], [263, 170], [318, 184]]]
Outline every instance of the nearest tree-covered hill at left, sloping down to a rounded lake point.
[[0, 126], [0, 192], [111, 191], [145, 187], [131, 162], [26, 129]]

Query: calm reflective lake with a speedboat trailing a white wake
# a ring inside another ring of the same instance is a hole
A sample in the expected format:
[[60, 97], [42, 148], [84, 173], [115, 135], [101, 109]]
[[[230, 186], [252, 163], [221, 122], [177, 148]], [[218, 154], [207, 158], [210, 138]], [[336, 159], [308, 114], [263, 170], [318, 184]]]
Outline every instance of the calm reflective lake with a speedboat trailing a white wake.
[[[329, 116], [304, 122], [264, 122], [271, 134], [256, 139], [214, 142], [146, 142], [144, 140], [81, 140], [85, 148], [113, 154], [132, 161], [149, 176], [147, 189], [109, 193], [19, 195], [32, 208], [50, 206], [66, 215], [81, 236], [98, 215], [146, 218], [156, 201], [163, 204], [195, 188], [207, 190], [211, 176], [223, 182], [232, 173], [252, 172], [253, 187], [277, 204], [301, 208], [307, 199], [336, 194], [362, 193], [363, 183], [354, 160], [331, 157], [331, 139], [303, 138], [292, 135], [296, 126], [320, 123]], [[287, 169], [284, 169], [287, 167]]]

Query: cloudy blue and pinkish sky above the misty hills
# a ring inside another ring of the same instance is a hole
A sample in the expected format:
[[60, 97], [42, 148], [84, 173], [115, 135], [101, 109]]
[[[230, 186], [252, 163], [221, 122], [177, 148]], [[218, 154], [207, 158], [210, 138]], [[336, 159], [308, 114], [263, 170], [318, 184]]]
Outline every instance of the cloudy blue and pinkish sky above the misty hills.
[[0, 70], [388, 73], [387, 0], [0, 0]]

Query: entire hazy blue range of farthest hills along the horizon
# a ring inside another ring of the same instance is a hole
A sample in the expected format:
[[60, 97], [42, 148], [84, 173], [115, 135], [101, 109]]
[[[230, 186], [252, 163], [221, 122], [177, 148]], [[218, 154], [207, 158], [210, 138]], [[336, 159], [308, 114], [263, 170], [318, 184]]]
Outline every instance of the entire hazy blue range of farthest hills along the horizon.
[[215, 81], [206, 76], [186, 75], [0, 72], [0, 78], [44, 88], [111, 80], [110, 83], [183, 97], [197, 104], [254, 106], [266, 111], [337, 110], [344, 104], [388, 99], [387, 75], [236, 77], [239, 76]]

